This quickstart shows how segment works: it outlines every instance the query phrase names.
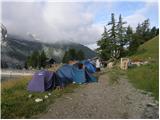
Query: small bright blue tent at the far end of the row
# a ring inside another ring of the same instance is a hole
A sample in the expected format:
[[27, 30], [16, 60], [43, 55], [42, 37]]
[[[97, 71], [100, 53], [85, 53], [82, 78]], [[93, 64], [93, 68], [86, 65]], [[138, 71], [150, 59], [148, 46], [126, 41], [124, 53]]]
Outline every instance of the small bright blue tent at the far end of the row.
[[85, 60], [85, 61], [82, 61], [82, 63], [85, 65], [88, 72], [90, 72], [90, 73], [95, 73], [96, 72], [96, 67], [90, 61]]

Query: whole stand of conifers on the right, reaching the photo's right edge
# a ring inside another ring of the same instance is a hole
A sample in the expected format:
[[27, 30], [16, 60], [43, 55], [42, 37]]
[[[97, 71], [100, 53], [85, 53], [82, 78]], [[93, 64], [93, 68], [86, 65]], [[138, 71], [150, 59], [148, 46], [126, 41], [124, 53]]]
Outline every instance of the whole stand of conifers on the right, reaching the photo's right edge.
[[97, 42], [99, 46], [97, 53], [102, 59], [118, 59], [128, 53], [133, 54], [139, 45], [159, 34], [159, 29], [149, 28], [149, 19], [142, 24], [139, 23], [135, 32], [130, 26], [125, 28], [124, 24], [126, 22], [123, 21], [121, 15], [119, 21], [116, 22], [114, 14], [111, 14], [111, 21], [107, 24], [110, 25], [110, 29], [107, 30], [105, 26], [102, 37]]

